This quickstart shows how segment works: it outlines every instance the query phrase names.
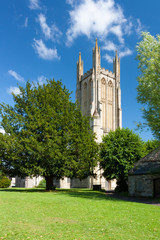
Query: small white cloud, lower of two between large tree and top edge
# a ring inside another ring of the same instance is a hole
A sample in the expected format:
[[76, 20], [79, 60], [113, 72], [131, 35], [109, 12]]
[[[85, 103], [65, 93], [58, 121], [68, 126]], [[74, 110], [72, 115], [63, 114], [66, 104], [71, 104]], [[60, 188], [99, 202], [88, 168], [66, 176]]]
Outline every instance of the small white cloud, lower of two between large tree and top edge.
[[33, 41], [33, 48], [35, 49], [40, 58], [44, 60], [60, 59], [56, 48], [47, 48], [42, 39], [34, 39]]

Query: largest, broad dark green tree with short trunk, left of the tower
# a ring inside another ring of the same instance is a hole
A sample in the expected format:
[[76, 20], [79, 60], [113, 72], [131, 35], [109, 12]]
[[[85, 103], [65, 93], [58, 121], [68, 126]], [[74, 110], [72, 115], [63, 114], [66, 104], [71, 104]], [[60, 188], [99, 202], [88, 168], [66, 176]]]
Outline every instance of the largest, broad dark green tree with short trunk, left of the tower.
[[42, 175], [47, 189], [53, 188], [54, 177], [82, 179], [92, 174], [95, 136], [62, 82], [27, 82], [20, 92], [13, 95], [13, 107], [1, 104], [1, 125], [10, 146], [3, 151], [3, 168], [22, 177]]

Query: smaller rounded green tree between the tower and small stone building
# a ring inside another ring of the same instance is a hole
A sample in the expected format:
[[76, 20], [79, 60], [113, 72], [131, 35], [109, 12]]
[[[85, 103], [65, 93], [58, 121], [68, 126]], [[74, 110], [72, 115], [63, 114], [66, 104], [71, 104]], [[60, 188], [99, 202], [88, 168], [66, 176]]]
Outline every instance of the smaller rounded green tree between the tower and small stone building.
[[103, 137], [100, 165], [103, 176], [117, 180], [117, 191], [127, 191], [128, 171], [143, 156], [143, 142], [128, 128], [118, 128]]

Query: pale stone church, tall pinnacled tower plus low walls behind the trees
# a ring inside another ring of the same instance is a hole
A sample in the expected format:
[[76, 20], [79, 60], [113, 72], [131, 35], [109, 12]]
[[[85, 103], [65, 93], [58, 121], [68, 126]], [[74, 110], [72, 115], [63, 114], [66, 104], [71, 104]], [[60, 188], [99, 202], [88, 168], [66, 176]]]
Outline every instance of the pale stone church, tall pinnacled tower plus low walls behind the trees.
[[[120, 88], [120, 59], [117, 51], [113, 59], [113, 72], [101, 67], [100, 48], [96, 39], [93, 48], [92, 69], [83, 73], [81, 53], [77, 62], [76, 100], [81, 107], [82, 114], [92, 117], [91, 128], [96, 133], [98, 143], [110, 130], [122, 127], [121, 88]], [[54, 184], [59, 188], [91, 188], [101, 186], [102, 189], [114, 189], [116, 182], [106, 181], [99, 166], [95, 168], [97, 178], [88, 177], [79, 179], [55, 179]], [[41, 180], [38, 178], [15, 179], [17, 187], [34, 187]], [[18, 183], [18, 184], [17, 184]]]

